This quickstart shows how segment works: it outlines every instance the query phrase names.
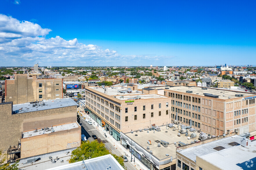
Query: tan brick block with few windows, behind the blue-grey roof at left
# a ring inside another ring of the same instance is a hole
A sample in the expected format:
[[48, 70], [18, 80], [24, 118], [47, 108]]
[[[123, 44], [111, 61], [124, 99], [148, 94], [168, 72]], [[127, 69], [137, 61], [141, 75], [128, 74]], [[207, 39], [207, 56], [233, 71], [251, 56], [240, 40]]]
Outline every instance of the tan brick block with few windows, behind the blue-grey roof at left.
[[26, 102], [61, 99], [63, 79], [37, 79], [27, 74], [16, 74], [14, 80], [5, 81], [5, 102]]

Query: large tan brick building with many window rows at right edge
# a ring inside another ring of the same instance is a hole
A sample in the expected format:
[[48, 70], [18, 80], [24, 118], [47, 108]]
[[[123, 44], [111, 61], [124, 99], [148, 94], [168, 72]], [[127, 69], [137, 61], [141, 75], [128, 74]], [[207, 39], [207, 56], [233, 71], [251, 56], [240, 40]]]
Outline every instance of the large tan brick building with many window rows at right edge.
[[164, 96], [171, 97], [171, 117], [184, 125], [210, 135], [222, 135], [227, 130], [241, 133], [256, 130], [255, 98], [252, 93], [212, 88], [170, 86]]

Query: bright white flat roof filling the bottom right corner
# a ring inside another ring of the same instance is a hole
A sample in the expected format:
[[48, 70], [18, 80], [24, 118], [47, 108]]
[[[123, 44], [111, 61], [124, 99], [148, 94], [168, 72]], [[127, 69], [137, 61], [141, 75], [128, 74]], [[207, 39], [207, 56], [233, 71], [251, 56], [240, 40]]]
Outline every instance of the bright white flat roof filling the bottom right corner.
[[256, 141], [251, 145], [243, 147], [241, 145], [223, 149], [212, 154], [200, 156], [200, 158], [220, 167], [221, 169], [255, 169], [256, 162]]

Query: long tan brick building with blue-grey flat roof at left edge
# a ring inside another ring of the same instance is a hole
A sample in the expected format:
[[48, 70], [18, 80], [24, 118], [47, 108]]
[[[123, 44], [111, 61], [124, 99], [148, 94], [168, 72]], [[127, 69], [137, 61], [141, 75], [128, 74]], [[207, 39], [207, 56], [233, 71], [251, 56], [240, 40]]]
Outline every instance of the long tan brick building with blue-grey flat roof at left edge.
[[77, 121], [77, 104], [70, 98], [17, 105], [1, 103], [0, 110], [1, 150], [18, 145], [21, 132]]

